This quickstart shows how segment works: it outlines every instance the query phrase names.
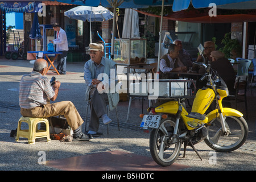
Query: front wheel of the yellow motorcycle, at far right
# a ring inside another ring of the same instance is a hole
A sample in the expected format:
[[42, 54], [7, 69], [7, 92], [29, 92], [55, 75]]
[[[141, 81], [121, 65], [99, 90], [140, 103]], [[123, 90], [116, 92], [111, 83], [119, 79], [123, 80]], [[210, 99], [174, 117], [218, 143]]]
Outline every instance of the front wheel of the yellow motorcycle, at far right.
[[248, 126], [243, 117], [229, 115], [225, 119], [228, 135], [222, 131], [220, 118], [214, 118], [209, 122], [208, 135], [205, 143], [215, 151], [230, 152], [240, 148], [248, 136]]

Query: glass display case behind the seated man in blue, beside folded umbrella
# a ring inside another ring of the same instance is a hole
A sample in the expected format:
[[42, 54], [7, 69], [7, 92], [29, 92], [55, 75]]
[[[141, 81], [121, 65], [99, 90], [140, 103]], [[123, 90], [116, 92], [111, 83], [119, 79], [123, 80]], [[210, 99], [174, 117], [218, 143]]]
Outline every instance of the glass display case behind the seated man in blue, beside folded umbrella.
[[115, 63], [121, 65], [146, 64], [146, 42], [146, 39], [115, 39]]

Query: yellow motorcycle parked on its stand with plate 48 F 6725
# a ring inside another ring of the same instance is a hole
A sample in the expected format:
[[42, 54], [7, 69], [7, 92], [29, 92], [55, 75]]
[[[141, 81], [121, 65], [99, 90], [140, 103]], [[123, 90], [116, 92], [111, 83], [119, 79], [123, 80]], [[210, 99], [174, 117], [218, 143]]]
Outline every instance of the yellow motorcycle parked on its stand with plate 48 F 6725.
[[[243, 114], [222, 106], [223, 98], [229, 94], [225, 82], [212, 75], [210, 65], [201, 65], [207, 73], [200, 81], [206, 79], [207, 85], [197, 91], [191, 113], [185, 109], [185, 99], [178, 98], [150, 107], [149, 114], [141, 115], [141, 127], [151, 128], [151, 156], [160, 166], [170, 166], [175, 162], [181, 144], [184, 144], [183, 157], [186, 147], [191, 146], [203, 160], [194, 146], [202, 140], [215, 151], [230, 152], [240, 148], [247, 139], [248, 126]], [[216, 109], [205, 114], [213, 101]]]

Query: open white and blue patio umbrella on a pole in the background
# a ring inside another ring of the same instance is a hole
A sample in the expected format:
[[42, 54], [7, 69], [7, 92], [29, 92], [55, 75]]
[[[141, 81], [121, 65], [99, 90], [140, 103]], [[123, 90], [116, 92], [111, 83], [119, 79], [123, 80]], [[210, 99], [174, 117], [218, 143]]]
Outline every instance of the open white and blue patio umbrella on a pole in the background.
[[112, 19], [114, 14], [105, 7], [98, 6], [77, 6], [65, 11], [65, 16], [71, 19], [77, 19], [90, 22], [90, 43], [92, 43], [92, 22], [103, 22]]

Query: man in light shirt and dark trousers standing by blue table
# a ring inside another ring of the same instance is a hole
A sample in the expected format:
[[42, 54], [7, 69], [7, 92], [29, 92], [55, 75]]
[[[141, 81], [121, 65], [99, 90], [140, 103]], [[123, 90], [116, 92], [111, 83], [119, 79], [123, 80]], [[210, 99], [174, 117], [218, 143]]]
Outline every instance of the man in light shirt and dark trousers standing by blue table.
[[57, 38], [54, 40], [49, 40], [49, 42], [56, 44], [56, 52], [62, 52], [62, 54], [57, 58], [57, 71], [60, 73], [60, 75], [65, 75], [68, 55], [67, 34], [62, 28], [60, 28], [59, 23], [54, 23], [52, 27], [53, 30], [57, 32]]

